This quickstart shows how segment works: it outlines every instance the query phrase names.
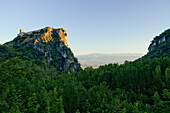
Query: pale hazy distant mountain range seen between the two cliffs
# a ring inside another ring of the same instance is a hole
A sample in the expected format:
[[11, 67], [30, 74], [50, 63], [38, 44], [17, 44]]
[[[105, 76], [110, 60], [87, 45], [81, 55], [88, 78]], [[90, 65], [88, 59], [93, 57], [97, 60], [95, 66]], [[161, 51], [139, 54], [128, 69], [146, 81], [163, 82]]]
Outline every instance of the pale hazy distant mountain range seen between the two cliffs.
[[122, 64], [124, 61], [134, 61], [144, 54], [140, 53], [120, 53], [120, 54], [102, 54], [93, 53], [87, 55], [77, 55], [79, 62], [83, 68], [92, 66], [94, 68], [100, 65], [105, 65], [109, 63], [119, 63]]

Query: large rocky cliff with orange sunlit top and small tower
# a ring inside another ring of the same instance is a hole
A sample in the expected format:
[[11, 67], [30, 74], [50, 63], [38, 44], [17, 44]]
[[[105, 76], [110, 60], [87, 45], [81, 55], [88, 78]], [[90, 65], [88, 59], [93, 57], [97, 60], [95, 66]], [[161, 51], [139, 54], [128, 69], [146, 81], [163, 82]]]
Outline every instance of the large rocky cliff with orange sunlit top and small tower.
[[37, 64], [46, 60], [58, 71], [80, 71], [81, 67], [67, 44], [67, 33], [63, 28], [46, 27], [40, 30], [24, 32], [11, 42], [4, 44], [19, 53], [17, 57], [35, 60]]

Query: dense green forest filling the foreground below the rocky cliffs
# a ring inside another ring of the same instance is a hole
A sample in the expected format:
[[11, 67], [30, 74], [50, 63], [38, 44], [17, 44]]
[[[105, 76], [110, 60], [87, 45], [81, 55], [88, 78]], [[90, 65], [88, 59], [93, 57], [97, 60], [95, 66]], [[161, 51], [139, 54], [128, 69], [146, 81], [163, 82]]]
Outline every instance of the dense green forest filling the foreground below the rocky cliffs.
[[0, 63], [0, 111], [25, 113], [170, 111], [170, 59], [109, 64], [58, 74], [44, 63]]

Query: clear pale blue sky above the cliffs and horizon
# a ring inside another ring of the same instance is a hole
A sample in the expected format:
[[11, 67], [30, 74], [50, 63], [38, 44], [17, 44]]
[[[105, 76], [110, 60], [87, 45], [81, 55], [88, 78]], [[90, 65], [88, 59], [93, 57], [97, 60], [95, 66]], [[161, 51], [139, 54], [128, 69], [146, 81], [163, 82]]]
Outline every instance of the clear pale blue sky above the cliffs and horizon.
[[146, 53], [170, 28], [170, 0], [0, 0], [0, 43], [22, 28], [63, 27], [76, 55]]

